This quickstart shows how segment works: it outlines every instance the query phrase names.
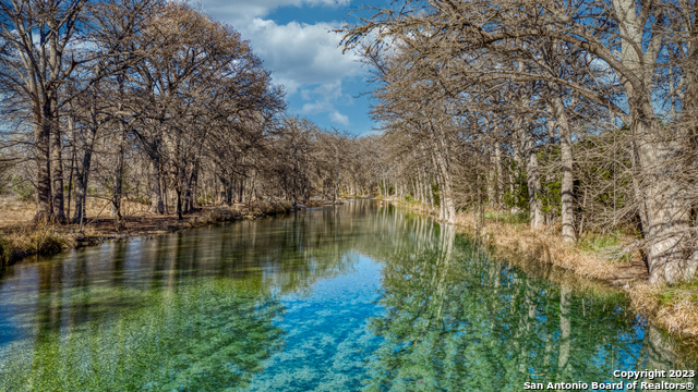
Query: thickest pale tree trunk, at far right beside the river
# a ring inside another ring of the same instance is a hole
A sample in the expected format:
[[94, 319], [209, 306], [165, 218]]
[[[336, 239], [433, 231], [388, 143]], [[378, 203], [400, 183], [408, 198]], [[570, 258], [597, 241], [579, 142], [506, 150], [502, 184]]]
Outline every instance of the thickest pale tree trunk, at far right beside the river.
[[[626, 32], [621, 40], [618, 59], [634, 78], [625, 78], [637, 154], [637, 172], [640, 174], [638, 201], [646, 211], [642, 234], [648, 242], [647, 255], [650, 270], [650, 283], [677, 283], [690, 280], [698, 267], [698, 257], [690, 257], [690, 201], [682, 197], [682, 164], [677, 164], [682, 146], [677, 143], [679, 135], [675, 131], [667, 132], [661, 120], [654, 115], [653, 78], [657, 72], [657, 57], [661, 45], [645, 45], [648, 39], [653, 42], [664, 33], [654, 32], [648, 36], [646, 25], [649, 22], [638, 17], [638, 3], [634, 0], [616, 0], [613, 2], [619, 29]], [[657, 17], [658, 26], [663, 22]], [[640, 48], [641, 51], [638, 51]], [[645, 49], [647, 48], [647, 49]], [[690, 53], [689, 56], [694, 56]], [[689, 66], [695, 66], [691, 64]], [[687, 75], [691, 77], [690, 75]], [[693, 81], [688, 81], [690, 84]], [[687, 86], [690, 90], [690, 86]], [[687, 91], [690, 96], [691, 94]], [[689, 97], [690, 101], [690, 97]], [[690, 106], [690, 102], [687, 102]], [[671, 135], [671, 137], [669, 137]], [[647, 224], [645, 224], [647, 223]]]

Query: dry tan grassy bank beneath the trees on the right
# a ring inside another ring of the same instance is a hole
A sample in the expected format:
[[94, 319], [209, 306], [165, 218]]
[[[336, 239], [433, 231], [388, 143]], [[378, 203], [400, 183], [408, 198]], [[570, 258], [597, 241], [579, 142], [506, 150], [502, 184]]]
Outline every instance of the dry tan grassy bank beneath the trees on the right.
[[[438, 215], [437, 210], [420, 204], [392, 203], [421, 215]], [[456, 225], [458, 232], [474, 235], [471, 212], [459, 212]], [[539, 266], [534, 269], [540, 270], [540, 265], [558, 267], [568, 271], [569, 277], [625, 291], [638, 313], [671, 334], [686, 339], [687, 344], [698, 346], [698, 280], [676, 286], [650, 285], [639, 255], [622, 252], [624, 238], [619, 234], [588, 234], [575, 245], [566, 245], [558, 226], [531, 230], [525, 215], [488, 213], [479, 237], [491, 247], [493, 256], [528, 266], [525, 269], [530, 269], [530, 261], [535, 260], [534, 265]]]

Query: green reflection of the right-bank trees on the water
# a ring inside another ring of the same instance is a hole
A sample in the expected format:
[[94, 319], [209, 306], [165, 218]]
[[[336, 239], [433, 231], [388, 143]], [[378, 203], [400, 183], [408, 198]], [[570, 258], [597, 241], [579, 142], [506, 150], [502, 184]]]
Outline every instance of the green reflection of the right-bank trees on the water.
[[366, 391], [520, 391], [676, 368], [671, 341], [651, 326], [643, 334], [621, 294], [525, 275], [440, 230], [431, 241], [434, 230], [416, 230], [418, 243], [437, 246], [382, 255], [386, 310], [370, 327], [384, 342], [368, 363]]

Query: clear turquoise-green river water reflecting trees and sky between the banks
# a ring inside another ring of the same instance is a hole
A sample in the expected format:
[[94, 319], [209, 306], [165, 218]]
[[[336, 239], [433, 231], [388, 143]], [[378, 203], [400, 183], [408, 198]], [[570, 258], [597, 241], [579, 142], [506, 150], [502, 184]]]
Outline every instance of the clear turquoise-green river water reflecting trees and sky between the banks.
[[106, 243], [2, 272], [0, 391], [520, 391], [695, 368], [622, 295], [550, 273], [371, 201]]

